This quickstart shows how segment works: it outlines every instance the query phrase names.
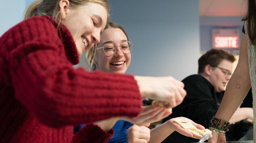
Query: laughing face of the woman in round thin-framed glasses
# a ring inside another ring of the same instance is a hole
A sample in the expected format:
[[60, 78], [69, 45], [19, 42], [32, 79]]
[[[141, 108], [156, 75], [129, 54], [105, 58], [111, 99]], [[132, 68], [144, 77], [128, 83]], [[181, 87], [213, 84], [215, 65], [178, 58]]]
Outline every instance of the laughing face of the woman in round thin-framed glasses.
[[[98, 47], [102, 47], [105, 43], [113, 43], [121, 45], [127, 41], [124, 32], [119, 28], [108, 28], [100, 36], [101, 40]], [[131, 53], [124, 54], [120, 46], [114, 55], [108, 56], [104, 53], [103, 49], [96, 51], [96, 70], [101, 70], [108, 73], [125, 73], [131, 62]]]

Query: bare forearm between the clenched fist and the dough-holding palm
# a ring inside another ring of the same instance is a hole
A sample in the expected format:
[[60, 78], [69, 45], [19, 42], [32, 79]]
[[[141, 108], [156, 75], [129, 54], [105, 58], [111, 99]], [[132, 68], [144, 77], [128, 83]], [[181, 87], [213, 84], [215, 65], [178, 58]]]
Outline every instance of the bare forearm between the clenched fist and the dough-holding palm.
[[174, 129], [171, 129], [167, 125], [167, 122], [161, 125], [158, 125], [154, 129], [150, 130], [150, 140], [148, 143], [160, 143], [174, 131], [175, 131]]

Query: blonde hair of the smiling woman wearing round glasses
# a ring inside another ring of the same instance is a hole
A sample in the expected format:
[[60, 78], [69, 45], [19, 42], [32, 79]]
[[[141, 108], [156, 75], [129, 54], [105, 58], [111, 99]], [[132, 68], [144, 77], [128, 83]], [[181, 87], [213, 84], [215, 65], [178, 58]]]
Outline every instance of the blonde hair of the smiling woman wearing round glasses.
[[[119, 28], [121, 29], [125, 36], [127, 37], [127, 40], [129, 40], [129, 37], [125, 31], [125, 29], [123, 28], [123, 26], [121, 26], [120, 24], [116, 23], [116, 22], [108, 22], [105, 29], [108, 28]], [[89, 71], [94, 71], [96, 70], [96, 64], [94, 62], [95, 61], [95, 56], [96, 56], [96, 48], [97, 48], [98, 44], [94, 44], [94, 46], [92, 48], [90, 48], [89, 50], [87, 50], [87, 52], [85, 53], [85, 63], [87, 64], [87, 69]]]

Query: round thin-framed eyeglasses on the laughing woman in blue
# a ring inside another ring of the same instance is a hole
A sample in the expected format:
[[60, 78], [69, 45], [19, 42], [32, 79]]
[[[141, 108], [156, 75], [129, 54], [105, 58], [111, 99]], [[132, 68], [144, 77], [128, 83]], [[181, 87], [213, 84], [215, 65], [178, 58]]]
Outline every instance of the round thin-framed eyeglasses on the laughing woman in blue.
[[[130, 54], [131, 51], [133, 50], [133, 45], [134, 44], [132, 42], [126, 41], [126, 42], [123, 42], [120, 45], [115, 45], [113, 43], [107, 43], [107, 44], [104, 44], [103, 47], [100, 47], [100, 48], [103, 49], [103, 51], [106, 55], [112, 56], [117, 52], [117, 47], [119, 47], [119, 46], [120, 46], [121, 51], [123, 53]], [[98, 50], [100, 48], [96, 48], [96, 50]]]

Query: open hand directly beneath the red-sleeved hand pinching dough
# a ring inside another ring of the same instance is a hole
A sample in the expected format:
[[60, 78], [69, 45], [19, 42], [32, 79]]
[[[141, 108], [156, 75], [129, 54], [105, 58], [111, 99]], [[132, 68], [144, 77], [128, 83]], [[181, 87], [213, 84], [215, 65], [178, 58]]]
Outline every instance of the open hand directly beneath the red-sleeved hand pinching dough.
[[121, 119], [139, 126], [143, 126], [148, 123], [160, 121], [161, 119], [169, 116], [171, 113], [172, 111], [160, 107], [159, 105], [149, 105], [142, 107], [142, 112], [137, 117], [132, 119], [122, 117]]

